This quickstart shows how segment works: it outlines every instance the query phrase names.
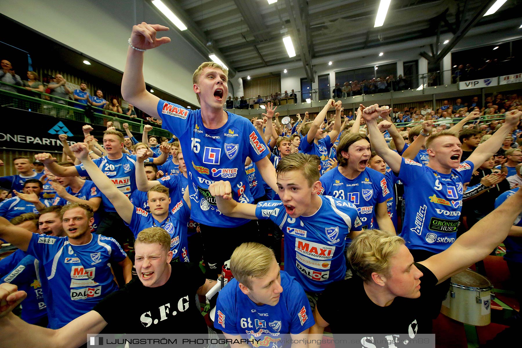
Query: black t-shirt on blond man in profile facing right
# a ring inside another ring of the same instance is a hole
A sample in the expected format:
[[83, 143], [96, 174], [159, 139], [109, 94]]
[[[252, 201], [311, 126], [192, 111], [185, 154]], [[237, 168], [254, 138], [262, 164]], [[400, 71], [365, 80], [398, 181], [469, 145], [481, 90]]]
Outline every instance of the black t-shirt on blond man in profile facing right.
[[[415, 263], [423, 273], [421, 296], [418, 298], [396, 297], [392, 304], [381, 307], [366, 295], [363, 280], [354, 275], [350, 279], [330, 284], [317, 299], [317, 310], [330, 324], [331, 332], [360, 334], [399, 334], [401, 338], [413, 338], [411, 334], [431, 333], [432, 306], [441, 306], [441, 301], [433, 301], [433, 290], [437, 278], [426, 267]], [[331, 302], [340, 296], [349, 299], [347, 306]], [[374, 337], [376, 337], [374, 335]]]

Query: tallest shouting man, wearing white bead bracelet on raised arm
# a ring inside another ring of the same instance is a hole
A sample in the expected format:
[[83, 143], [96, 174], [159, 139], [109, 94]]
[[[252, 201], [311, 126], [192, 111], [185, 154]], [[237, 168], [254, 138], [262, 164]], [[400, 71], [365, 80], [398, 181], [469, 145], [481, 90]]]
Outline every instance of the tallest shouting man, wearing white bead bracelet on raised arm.
[[[158, 31], [165, 30], [169, 28], [145, 22], [133, 27], [122, 95], [148, 115], [162, 119], [162, 127], [180, 139], [187, 163], [191, 216], [199, 223], [209, 271], [220, 273], [223, 262], [230, 258], [236, 246], [256, 238], [253, 231], [257, 230], [257, 224], [246, 225], [249, 222], [246, 219], [221, 214], [208, 186], [215, 181], [228, 180], [234, 199], [251, 203], [254, 199], [243, 170], [246, 158], [252, 159], [272, 189], [276, 189], [275, 169], [267, 158], [268, 147], [252, 123], [243, 116], [223, 110], [228, 96], [227, 68], [205, 62], [194, 71], [192, 87], [200, 110], [186, 109], [147, 91], [143, 76], [144, 51], [170, 42], [168, 37], [156, 38]], [[268, 124], [273, 115], [273, 110], [267, 110]]]

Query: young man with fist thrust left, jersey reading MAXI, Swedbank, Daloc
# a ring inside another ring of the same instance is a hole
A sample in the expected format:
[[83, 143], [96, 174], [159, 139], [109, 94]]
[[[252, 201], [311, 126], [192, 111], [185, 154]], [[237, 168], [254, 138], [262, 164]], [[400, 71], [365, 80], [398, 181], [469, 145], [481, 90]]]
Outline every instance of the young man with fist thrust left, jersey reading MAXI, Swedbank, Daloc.
[[361, 231], [357, 207], [346, 200], [318, 196], [321, 189], [316, 156], [292, 153], [277, 165], [281, 200], [256, 205], [232, 199], [229, 182], [210, 185], [219, 210], [231, 217], [270, 219], [285, 233], [285, 270], [309, 294], [311, 305], [326, 285], [345, 278], [345, 238]]

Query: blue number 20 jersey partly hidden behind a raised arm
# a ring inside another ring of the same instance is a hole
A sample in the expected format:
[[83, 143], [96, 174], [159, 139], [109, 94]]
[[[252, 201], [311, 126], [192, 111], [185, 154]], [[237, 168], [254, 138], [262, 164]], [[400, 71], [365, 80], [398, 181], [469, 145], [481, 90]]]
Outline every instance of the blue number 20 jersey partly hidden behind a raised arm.
[[[137, 190], [136, 187], [136, 155], [122, 154], [122, 157], [117, 160], [111, 160], [108, 157], [97, 158], [92, 160], [99, 169], [108, 176], [125, 196], [131, 196], [132, 191]], [[79, 176], [89, 176], [82, 164], [76, 165], [76, 170]], [[116, 211], [111, 201], [101, 194], [103, 207], [105, 211]]]

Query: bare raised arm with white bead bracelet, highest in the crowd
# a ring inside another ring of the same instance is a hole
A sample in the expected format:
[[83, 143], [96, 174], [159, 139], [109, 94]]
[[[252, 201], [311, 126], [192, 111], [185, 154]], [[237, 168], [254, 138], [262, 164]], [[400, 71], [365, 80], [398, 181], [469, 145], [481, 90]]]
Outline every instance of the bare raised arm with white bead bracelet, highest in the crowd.
[[[131, 33], [131, 45], [137, 49], [150, 50], [164, 43], [170, 42], [170, 38], [156, 38], [157, 31], [165, 31], [169, 28], [159, 24], [147, 24], [142, 22], [133, 26]], [[133, 47], [127, 50], [127, 62], [122, 79], [122, 97], [127, 102], [136, 106], [139, 110], [156, 118], [158, 115], [159, 98], [147, 91], [143, 77], [143, 60], [145, 52], [137, 51]]]

